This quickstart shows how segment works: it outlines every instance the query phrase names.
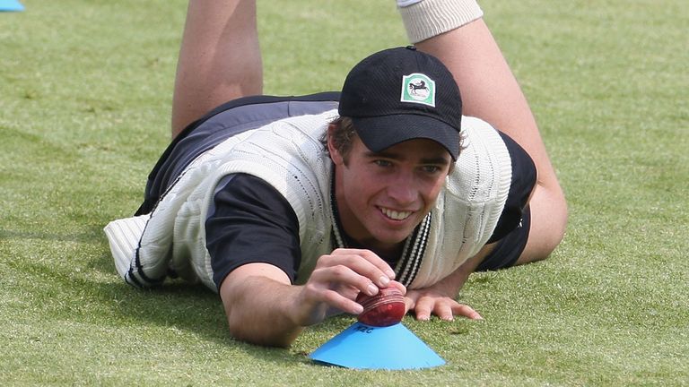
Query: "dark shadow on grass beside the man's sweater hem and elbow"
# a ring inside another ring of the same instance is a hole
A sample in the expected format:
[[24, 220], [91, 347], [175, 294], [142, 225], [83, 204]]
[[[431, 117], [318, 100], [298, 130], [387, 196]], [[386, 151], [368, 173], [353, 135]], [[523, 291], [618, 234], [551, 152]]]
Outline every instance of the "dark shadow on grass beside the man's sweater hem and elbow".
[[8, 241], [9, 249], [13, 241], [17, 246], [26, 242], [45, 246], [47, 256], [52, 256], [11, 264], [31, 283], [23, 289], [31, 294], [31, 302], [48, 305], [41, 318], [137, 331], [142, 340], [161, 340], [161, 331], [163, 338], [168, 332], [181, 331], [186, 338], [192, 338], [192, 345], [193, 340], [209, 341], [277, 366], [308, 361], [299, 356], [299, 349], [264, 348], [234, 340], [227, 329], [220, 297], [203, 285], [182, 280], [166, 281], [158, 288], [127, 285], [115, 270], [99, 225], [76, 233], [0, 228], [0, 240]]

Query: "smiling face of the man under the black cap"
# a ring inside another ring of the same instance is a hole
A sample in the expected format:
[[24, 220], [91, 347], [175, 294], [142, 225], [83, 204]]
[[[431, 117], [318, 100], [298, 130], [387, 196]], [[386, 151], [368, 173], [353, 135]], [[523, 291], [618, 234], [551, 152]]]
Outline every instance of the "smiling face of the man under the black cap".
[[397, 251], [431, 211], [452, 162], [438, 142], [424, 139], [373, 152], [357, 137], [346, 155], [330, 141], [328, 149], [342, 227], [378, 254]]

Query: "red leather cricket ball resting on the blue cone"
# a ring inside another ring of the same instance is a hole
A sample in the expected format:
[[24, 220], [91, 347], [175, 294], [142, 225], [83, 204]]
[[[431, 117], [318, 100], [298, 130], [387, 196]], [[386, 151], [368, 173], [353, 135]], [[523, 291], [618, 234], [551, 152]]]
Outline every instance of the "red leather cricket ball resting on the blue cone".
[[375, 296], [359, 293], [356, 302], [363, 306], [359, 322], [376, 327], [395, 325], [405, 316], [405, 297], [397, 288], [381, 288]]

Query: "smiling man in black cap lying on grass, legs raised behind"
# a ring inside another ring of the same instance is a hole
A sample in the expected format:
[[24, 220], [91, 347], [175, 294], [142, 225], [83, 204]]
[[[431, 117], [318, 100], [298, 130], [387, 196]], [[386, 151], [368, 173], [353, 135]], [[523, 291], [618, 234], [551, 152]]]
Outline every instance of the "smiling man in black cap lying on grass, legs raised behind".
[[480, 8], [399, 3], [415, 47], [284, 98], [261, 95], [255, 2], [190, 2], [174, 140], [106, 228], [128, 283], [201, 281], [234, 337], [286, 346], [379, 288], [419, 320], [481, 318], [456, 300], [473, 271], [553, 251], [563, 193]]

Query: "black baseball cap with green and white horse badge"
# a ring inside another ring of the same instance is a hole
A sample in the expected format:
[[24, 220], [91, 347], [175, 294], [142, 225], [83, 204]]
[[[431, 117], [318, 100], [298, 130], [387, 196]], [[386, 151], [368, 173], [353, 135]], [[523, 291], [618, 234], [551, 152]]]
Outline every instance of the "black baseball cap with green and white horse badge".
[[352, 118], [370, 150], [423, 138], [458, 157], [459, 88], [438, 58], [414, 47], [389, 48], [356, 64], [342, 87], [338, 113]]

